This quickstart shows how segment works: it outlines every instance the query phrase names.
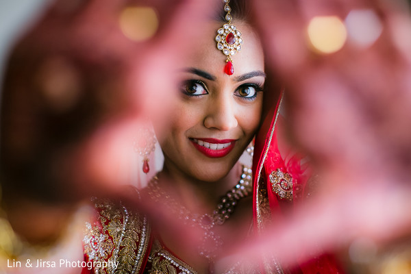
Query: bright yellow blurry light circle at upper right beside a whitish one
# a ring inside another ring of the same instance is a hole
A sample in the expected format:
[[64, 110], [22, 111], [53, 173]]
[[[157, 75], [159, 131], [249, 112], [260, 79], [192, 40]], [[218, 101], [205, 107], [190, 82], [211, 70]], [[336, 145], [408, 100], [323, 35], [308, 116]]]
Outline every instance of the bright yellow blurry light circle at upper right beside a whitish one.
[[308, 24], [312, 47], [321, 53], [339, 51], [347, 40], [347, 29], [337, 16], [316, 16]]

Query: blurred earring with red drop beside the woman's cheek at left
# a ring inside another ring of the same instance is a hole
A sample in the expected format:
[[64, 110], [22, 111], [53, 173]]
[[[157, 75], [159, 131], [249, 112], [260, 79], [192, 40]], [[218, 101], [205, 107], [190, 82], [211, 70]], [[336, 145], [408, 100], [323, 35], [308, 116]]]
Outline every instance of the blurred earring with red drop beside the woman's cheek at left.
[[134, 151], [138, 155], [142, 156], [142, 172], [149, 173], [149, 155], [155, 149], [155, 139], [154, 132], [150, 129], [143, 128], [138, 130], [138, 136], [134, 140]]

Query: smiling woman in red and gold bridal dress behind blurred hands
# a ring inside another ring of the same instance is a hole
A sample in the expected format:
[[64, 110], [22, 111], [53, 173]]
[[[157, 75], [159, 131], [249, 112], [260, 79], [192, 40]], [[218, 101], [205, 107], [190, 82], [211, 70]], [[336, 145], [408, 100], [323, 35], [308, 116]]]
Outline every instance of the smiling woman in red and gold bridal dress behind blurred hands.
[[[224, 2], [221, 18], [201, 29], [196, 46], [177, 64], [173, 110], [169, 119], [152, 121], [164, 167], [139, 192], [185, 229], [97, 200], [99, 216], [84, 237], [85, 258], [96, 263], [84, 273], [341, 273], [326, 256], [292, 269], [273, 258], [251, 269], [224, 263], [242, 240], [306, 195], [307, 180], [300, 159], [284, 153], [277, 138], [282, 92], [266, 79], [246, 3]], [[147, 159], [155, 140], [149, 129], [143, 132], [145, 145], [137, 151]], [[253, 138], [251, 168], [239, 158]], [[195, 242], [187, 242], [190, 230], [198, 232]]]

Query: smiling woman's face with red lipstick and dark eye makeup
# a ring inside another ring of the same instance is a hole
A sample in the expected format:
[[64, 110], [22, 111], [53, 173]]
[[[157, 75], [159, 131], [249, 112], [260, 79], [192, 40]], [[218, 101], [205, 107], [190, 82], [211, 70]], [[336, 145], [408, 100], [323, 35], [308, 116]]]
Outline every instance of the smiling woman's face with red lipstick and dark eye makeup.
[[251, 27], [242, 32], [242, 50], [232, 58], [234, 74], [224, 73], [225, 55], [216, 49], [216, 30], [203, 30], [197, 47], [179, 69], [179, 97], [169, 127], [159, 136], [169, 170], [201, 181], [223, 178], [232, 169], [260, 124], [264, 56]]

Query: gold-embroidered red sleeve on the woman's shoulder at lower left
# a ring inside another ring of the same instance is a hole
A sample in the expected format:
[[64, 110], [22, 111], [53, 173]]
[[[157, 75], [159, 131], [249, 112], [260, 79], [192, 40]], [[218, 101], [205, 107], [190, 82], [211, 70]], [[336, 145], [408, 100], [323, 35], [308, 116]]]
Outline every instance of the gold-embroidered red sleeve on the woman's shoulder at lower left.
[[95, 208], [99, 211], [99, 224], [92, 227], [86, 223], [84, 252], [94, 262], [111, 262], [108, 269], [99, 268], [97, 264], [95, 273], [128, 274], [140, 271], [149, 242], [146, 217], [110, 201], [97, 201]]

